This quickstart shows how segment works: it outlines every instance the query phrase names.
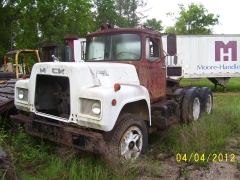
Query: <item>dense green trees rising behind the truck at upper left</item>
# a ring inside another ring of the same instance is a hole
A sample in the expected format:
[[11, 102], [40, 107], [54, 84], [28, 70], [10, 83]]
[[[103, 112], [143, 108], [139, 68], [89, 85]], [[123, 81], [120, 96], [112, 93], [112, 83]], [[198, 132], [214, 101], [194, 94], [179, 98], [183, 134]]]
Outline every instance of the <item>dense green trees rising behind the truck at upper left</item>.
[[120, 27], [134, 27], [144, 14], [139, 0], [7, 0], [0, 4], [0, 65], [13, 49], [38, 49], [65, 43], [63, 36], [85, 37], [99, 29], [102, 20]]

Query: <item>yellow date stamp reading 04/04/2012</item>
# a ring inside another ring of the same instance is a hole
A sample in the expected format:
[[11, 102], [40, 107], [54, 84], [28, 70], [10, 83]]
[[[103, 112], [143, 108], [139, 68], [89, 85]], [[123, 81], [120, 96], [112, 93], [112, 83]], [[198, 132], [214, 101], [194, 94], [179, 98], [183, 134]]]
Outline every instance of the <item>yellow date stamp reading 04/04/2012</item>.
[[199, 154], [199, 153], [191, 153], [191, 154], [176, 154], [177, 162], [235, 162], [235, 154], [227, 154], [227, 153], [209, 153], [209, 154]]

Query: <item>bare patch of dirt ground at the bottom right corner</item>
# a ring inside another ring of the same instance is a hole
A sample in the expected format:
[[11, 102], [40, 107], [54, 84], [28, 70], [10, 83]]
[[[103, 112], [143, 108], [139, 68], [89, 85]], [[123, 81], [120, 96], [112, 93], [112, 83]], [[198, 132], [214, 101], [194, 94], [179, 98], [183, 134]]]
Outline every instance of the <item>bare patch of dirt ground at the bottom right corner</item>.
[[157, 177], [140, 177], [140, 179], [151, 180], [239, 180], [240, 179], [240, 138], [232, 138], [227, 147], [228, 154], [234, 154], [234, 162], [227, 160], [211, 163], [177, 162], [176, 156], [168, 154], [157, 154], [162, 172]]

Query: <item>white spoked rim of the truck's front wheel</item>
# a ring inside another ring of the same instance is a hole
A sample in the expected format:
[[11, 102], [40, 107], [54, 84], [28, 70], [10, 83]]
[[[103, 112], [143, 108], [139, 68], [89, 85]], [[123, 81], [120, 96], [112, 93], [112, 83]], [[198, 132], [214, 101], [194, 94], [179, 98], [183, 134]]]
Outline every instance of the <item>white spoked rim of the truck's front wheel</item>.
[[135, 159], [142, 150], [142, 132], [137, 126], [132, 126], [123, 134], [120, 141], [120, 154], [125, 159]]

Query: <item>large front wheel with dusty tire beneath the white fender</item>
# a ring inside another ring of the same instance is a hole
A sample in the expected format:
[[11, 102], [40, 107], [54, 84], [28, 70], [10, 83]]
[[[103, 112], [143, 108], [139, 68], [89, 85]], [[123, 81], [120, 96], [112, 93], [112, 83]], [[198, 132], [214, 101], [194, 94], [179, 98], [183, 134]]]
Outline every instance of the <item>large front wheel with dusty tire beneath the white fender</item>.
[[124, 159], [136, 159], [147, 150], [148, 131], [145, 122], [134, 114], [129, 114], [118, 122], [108, 137], [111, 155]]

